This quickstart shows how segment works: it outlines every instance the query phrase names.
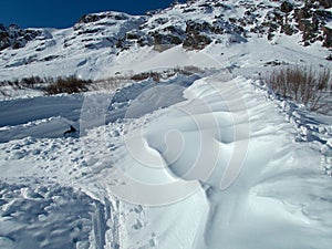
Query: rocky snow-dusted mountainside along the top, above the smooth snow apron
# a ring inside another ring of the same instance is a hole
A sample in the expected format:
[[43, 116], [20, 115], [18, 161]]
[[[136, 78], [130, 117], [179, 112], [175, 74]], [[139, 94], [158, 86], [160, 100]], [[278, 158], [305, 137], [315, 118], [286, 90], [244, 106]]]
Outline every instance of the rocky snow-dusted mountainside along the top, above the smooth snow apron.
[[64, 30], [1, 25], [0, 79], [68, 74], [105, 77], [128, 71], [114, 68], [116, 62], [123, 64], [126, 51], [156, 54], [179, 46], [185, 52], [210, 53], [211, 48], [245, 45], [257, 39], [274, 45], [286, 38], [297, 48], [319, 51], [320, 59], [331, 59], [331, 7], [328, 0], [191, 0], [137, 17], [87, 14]]

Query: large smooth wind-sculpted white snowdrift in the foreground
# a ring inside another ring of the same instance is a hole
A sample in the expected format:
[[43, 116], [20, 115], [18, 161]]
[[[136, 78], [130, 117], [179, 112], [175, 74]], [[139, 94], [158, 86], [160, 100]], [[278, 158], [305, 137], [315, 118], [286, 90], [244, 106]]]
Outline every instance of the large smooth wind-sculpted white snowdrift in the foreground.
[[116, 132], [92, 131], [103, 137], [85, 143], [86, 156], [95, 146], [113, 151], [91, 167], [102, 173], [98, 183], [145, 207], [139, 219], [127, 215], [123, 247], [329, 248], [331, 179], [321, 175], [321, 154], [292, 138], [273, 103], [222, 74], [196, 81], [185, 96], [113, 124]]

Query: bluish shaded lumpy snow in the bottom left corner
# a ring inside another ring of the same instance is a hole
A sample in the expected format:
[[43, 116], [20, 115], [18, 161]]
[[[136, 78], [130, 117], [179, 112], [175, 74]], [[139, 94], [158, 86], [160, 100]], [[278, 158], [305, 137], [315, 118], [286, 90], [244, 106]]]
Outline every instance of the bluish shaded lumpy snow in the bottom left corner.
[[55, 183], [32, 187], [29, 180], [0, 181], [1, 248], [87, 248], [96, 201], [71, 187]]

